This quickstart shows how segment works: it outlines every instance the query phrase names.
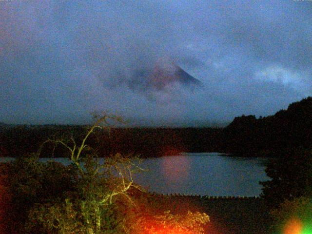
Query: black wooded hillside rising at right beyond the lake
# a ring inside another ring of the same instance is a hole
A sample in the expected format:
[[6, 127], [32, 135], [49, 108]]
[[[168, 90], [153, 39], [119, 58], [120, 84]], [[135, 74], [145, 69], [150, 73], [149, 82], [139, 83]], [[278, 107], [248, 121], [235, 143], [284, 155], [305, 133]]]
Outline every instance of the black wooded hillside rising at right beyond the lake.
[[278, 155], [291, 148], [312, 149], [312, 97], [273, 116], [235, 117], [222, 135], [220, 148], [228, 152]]

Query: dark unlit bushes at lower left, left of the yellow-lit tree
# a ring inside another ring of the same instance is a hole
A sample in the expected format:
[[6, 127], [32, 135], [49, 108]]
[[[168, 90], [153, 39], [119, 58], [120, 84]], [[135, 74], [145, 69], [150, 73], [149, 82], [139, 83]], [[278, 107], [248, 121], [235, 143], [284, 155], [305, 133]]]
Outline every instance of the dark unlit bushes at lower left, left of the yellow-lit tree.
[[24, 223], [32, 206], [64, 198], [67, 191], [74, 190], [75, 177], [72, 166], [53, 161], [42, 163], [36, 156], [0, 163], [0, 225], [5, 226], [1, 234], [24, 233]]

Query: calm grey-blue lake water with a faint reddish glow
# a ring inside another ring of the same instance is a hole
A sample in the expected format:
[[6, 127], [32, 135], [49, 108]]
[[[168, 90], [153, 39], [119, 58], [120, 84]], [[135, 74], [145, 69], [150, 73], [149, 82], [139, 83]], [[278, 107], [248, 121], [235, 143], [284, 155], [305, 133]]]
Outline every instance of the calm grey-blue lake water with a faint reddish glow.
[[[50, 158], [40, 158], [47, 161]], [[10, 160], [0, 158], [0, 161]], [[68, 164], [66, 158], [54, 160]], [[143, 159], [147, 169], [134, 180], [150, 192], [209, 196], [258, 196], [259, 181], [268, 180], [267, 158], [232, 157], [219, 153], [183, 153]]]

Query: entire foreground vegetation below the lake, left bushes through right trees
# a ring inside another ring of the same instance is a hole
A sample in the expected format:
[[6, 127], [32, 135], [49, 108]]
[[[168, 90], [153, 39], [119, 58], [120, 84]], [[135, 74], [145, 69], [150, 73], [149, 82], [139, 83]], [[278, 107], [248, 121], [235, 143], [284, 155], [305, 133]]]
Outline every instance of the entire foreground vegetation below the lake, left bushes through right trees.
[[103, 122], [121, 121], [97, 119], [79, 142], [69, 135], [44, 143], [53, 153], [64, 148], [69, 166], [39, 162], [42, 148], [0, 164], [1, 234], [311, 233], [311, 152], [292, 153], [291, 166], [268, 165], [273, 179], [262, 183], [262, 199], [152, 195], [132, 179], [142, 171], [133, 156], [97, 160], [88, 137], [99, 139]]

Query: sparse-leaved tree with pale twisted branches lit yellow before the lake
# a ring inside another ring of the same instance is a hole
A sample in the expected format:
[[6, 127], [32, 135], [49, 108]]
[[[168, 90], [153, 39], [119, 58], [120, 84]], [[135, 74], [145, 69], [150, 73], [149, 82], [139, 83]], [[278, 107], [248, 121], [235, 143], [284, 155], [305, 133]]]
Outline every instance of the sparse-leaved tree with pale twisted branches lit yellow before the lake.
[[[79, 206], [85, 222], [84, 228], [88, 234], [102, 232], [104, 221], [101, 210], [112, 205], [114, 197], [123, 196], [135, 206], [128, 191], [131, 187], [141, 190], [138, 185], [134, 184], [133, 174], [143, 170], [139, 167], [138, 157], [122, 156], [118, 153], [100, 160], [97, 149], [93, 149], [86, 143], [88, 137], [95, 134], [97, 130], [108, 130], [111, 121], [124, 123], [124, 120], [117, 116], [96, 114], [94, 117], [96, 121], [89, 128], [81, 143], [78, 144], [73, 136], [70, 139], [48, 139], [44, 142], [44, 144], [52, 143], [54, 150], [59, 144], [63, 146], [68, 150], [70, 160], [77, 166], [80, 175], [79, 186], [82, 191]], [[68, 200], [66, 202], [68, 203]], [[64, 226], [64, 223], [62, 225]], [[67, 230], [68, 227], [65, 229]]]

